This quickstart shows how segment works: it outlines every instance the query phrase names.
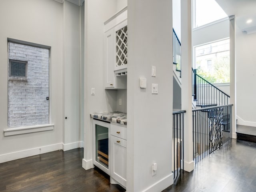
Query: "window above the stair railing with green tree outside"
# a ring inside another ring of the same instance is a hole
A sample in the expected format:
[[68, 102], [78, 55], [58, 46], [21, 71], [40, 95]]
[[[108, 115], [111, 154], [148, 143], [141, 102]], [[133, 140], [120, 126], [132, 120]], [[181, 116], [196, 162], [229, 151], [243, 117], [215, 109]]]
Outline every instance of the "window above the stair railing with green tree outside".
[[197, 74], [210, 83], [230, 82], [229, 39], [195, 47]]

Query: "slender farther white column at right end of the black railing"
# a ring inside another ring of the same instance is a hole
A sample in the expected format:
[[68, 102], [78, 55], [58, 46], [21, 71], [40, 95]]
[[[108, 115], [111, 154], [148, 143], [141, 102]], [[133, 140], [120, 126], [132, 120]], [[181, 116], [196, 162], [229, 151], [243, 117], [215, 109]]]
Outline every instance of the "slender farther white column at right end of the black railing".
[[232, 108], [232, 138], [236, 139], [236, 17], [229, 17], [230, 33], [230, 104]]

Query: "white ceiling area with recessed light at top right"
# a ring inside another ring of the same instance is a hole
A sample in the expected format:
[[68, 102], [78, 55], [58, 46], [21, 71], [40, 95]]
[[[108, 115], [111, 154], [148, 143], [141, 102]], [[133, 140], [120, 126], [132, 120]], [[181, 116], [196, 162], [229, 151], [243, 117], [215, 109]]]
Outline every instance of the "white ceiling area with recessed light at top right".
[[[256, 32], [256, 0], [215, 0], [228, 16], [236, 16], [236, 25], [247, 34]], [[251, 23], [246, 23], [247, 20]]]

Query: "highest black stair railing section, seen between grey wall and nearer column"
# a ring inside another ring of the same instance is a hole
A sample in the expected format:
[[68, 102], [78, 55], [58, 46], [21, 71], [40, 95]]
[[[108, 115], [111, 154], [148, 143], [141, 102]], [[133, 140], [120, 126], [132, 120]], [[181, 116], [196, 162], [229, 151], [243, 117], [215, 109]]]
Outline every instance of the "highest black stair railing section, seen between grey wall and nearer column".
[[173, 64], [176, 64], [176, 71], [180, 72], [180, 77], [181, 77], [181, 44], [174, 29], [172, 29], [172, 40], [173, 40]]

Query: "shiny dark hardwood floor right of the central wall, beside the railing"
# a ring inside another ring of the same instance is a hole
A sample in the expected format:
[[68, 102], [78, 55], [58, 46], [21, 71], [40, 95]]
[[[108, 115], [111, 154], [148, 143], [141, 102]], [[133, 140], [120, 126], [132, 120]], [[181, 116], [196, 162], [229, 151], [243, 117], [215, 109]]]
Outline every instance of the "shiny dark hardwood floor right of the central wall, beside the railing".
[[256, 192], [256, 143], [233, 139], [163, 192]]

